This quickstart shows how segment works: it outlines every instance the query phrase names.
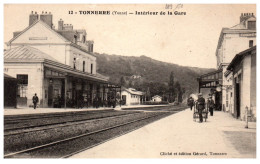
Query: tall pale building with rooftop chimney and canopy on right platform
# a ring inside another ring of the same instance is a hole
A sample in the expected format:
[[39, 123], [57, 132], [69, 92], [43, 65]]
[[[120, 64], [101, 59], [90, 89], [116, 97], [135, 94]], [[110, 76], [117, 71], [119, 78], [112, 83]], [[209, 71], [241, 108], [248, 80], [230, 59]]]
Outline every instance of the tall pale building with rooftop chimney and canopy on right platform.
[[[217, 71], [198, 78], [199, 90], [210, 88], [219, 110], [235, 116], [233, 72], [229, 64], [240, 52], [256, 45], [256, 17], [253, 13], [242, 13], [240, 23], [231, 28], [222, 28], [216, 48]], [[237, 116], [236, 116], [237, 117]], [[240, 115], [237, 118], [241, 118]]]

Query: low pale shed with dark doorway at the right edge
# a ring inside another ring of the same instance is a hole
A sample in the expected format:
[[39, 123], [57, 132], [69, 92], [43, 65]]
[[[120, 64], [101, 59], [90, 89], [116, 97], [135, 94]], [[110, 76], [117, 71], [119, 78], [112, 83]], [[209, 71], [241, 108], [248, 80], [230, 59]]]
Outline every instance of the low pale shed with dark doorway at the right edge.
[[225, 76], [232, 75], [232, 99], [234, 108], [231, 113], [242, 120], [246, 119], [246, 107], [256, 120], [256, 46], [238, 53], [227, 67]]

